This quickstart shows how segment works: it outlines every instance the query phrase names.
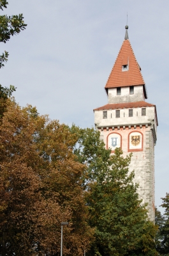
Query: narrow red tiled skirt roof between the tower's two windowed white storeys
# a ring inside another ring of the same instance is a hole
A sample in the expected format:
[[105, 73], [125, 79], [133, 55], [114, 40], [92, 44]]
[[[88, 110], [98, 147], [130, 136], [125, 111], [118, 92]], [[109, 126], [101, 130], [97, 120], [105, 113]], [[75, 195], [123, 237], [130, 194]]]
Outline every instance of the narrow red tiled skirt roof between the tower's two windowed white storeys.
[[145, 102], [145, 101], [136, 101], [136, 102], [127, 102], [127, 103], [115, 103], [115, 104], [107, 104], [100, 108], [95, 108], [95, 110], [105, 110], [105, 109], [122, 109], [122, 108], [143, 108], [143, 107], [153, 107], [156, 105]]

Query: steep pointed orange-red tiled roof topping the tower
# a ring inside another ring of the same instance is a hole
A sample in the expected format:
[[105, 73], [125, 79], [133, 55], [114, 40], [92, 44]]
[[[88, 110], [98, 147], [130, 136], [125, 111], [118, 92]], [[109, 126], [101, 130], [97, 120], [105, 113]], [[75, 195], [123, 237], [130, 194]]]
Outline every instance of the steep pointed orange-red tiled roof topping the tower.
[[[105, 90], [108, 91], [108, 88], [115, 87], [143, 85], [145, 99], [147, 99], [145, 82], [143, 81], [143, 77], [140, 72], [141, 68], [136, 61], [129, 39], [127, 39], [128, 33], [125, 35], [125, 38], [126, 39], [122, 43], [117, 59], [115, 60], [114, 67], [108, 77]], [[122, 70], [124, 65], [128, 65], [127, 70]]]

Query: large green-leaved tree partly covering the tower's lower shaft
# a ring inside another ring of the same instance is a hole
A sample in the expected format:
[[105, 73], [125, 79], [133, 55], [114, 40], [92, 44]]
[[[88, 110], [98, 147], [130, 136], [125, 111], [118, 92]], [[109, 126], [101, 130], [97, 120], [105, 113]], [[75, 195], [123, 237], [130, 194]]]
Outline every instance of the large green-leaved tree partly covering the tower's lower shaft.
[[156, 227], [147, 219], [147, 210], [139, 200], [129, 173], [131, 154], [122, 157], [118, 148], [114, 156], [99, 140], [94, 129], [78, 129], [78, 161], [87, 165], [85, 198], [89, 224], [95, 228], [95, 241], [87, 255], [158, 255], [154, 237]]

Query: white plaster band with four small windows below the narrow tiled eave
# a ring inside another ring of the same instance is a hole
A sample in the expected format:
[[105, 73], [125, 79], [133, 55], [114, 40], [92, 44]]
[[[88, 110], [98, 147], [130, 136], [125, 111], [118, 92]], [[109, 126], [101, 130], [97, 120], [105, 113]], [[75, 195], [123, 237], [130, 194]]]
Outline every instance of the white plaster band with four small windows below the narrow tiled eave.
[[142, 108], [133, 108], [133, 116], [131, 117], [129, 117], [129, 109], [120, 109], [119, 118], [115, 118], [115, 109], [108, 109], [106, 111], [107, 111], [107, 118], [105, 119], [103, 119], [102, 110], [94, 111], [94, 123], [96, 127], [148, 124], [156, 118], [154, 106], [146, 108], [145, 116], [142, 116]]

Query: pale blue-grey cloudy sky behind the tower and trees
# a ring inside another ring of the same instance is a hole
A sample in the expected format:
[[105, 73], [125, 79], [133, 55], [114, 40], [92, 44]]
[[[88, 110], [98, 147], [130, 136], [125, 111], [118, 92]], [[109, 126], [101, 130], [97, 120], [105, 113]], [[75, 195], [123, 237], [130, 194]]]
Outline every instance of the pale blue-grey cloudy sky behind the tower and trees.
[[[104, 86], [128, 35], [156, 104], [156, 205], [169, 193], [169, 1], [168, 0], [8, 0], [1, 15], [23, 13], [25, 31], [1, 51], [8, 63], [0, 83], [17, 87], [20, 106], [31, 104], [68, 125], [94, 127], [92, 109], [107, 104]], [[163, 212], [163, 209], [161, 209]]]

